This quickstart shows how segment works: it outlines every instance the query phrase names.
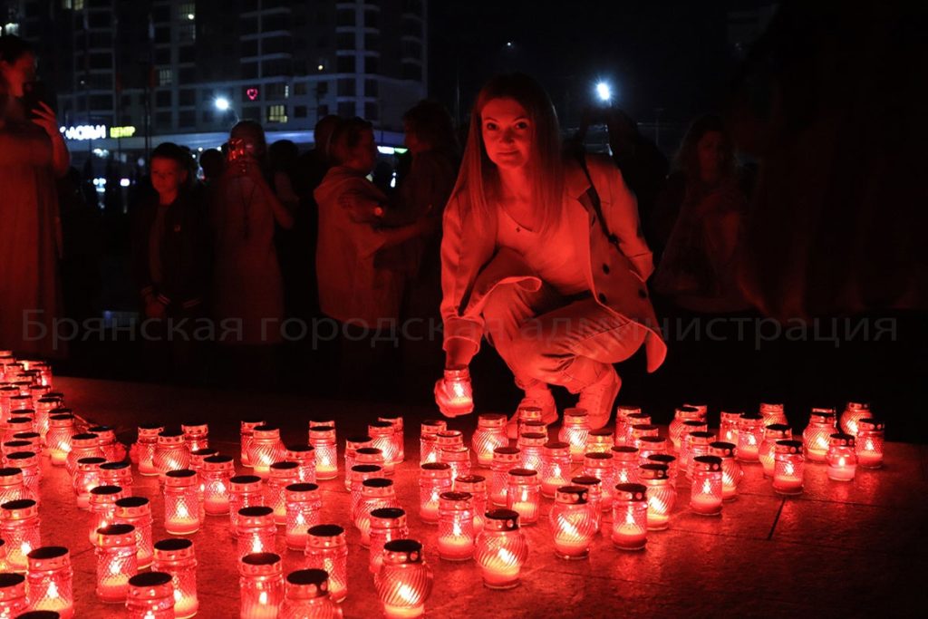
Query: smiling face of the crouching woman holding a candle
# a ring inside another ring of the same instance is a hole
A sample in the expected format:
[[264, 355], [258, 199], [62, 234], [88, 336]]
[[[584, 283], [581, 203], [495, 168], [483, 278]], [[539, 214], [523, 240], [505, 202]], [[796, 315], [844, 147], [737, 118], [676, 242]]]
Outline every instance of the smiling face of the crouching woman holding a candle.
[[532, 153], [534, 129], [528, 112], [515, 99], [490, 99], [480, 112], [483, 148], [500, 168], [524, 167]]

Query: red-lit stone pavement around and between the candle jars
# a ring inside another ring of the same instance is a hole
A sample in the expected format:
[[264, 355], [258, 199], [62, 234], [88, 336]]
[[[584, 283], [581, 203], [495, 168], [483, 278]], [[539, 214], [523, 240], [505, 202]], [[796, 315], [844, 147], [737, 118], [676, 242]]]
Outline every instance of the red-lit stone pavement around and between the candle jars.
[[[84, 418], [114, 426], [123, 443], [135, 440], [138, 423], [185, 419], [210, 424], [210, 445], [238, 457], [238, 419], [263, 415], [279, 423], [285, 443], [305, 443], [306, 420], [337, 420], [343, 439], [366, 432], [367, 421], [399, 412], [406, 420], [406, 462], [396, 473], [400, 503], [409, 514], [410, 536], [422, 541], [434, 572], [426, 610], [433, 617], [744, 617], [924, 616], [928, 608], [928, 449], [889, 443], [882, 470], [857, 470], [851, 483], [831, 482], [824, 466], [806, 467], [801, 496], [776, 496], [759, 465], [745, 466], [738, 500], [721, 518], [687, 509], [689, 490], [678, 484], [670, 529], [651, 533], [644, 551], [614, 549], [601, 535], [586, 561], [553, 554], [543, 501], [538, 524], [524, 527], [530, 544], [522, 585], [509, 591], [482, 586], [472, 562], [439, 560], [436, 527], [419, 521], [419, 421], [432, 409], [386, 410], [377, 404], [345, 404], [296, 396], [221, 393], [103, 380], [57, 378], [68, 406]], [[790, 413], [791, 411], [787, 411]], [[806, 412], [792, 415], [805, 424]], [[710, 419], [712, 415], [710, 413]], [[449, 421], [470, 437], [474, 417]], [[340, 464], [342, 464], [340, 462]], [[99, 602], [95, 557], [87, 541], [86, 511], [76, 509], [67, 471], [44, 462], [42, 542], [71, 548], [76, 616], [121, 617], [124, 609]], [[239, 467], [239, 472], [243, 470]], [[478, 471], [479, 472], [479, 471]], [[380, 616], [367, 572], [367, 549], [347, 515], [342, 477], [320, 484], [322, 522], [344, 526], [349, 542], [346, 617]], [[156, 478], [135, 475], [135, 494], [152, 499], [154, 539], [164, 533], [163, 501]], [[200, 613], [207, 619], [238, 617], [238, 574], [227, 517], [210, 517], [193, 540], [200, 562]], [[302, 554], [277, 551], [285, 573], [300, 569]]]

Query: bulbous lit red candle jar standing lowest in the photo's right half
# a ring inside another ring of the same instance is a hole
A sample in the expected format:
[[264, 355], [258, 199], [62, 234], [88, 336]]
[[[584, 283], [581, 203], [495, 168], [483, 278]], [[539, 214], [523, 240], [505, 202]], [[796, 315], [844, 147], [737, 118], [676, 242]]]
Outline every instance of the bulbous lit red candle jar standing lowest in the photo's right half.
[[519, 514], [511, 509], [488, 511], [483, 531], [474, 543], [473, 558], [480, 565], [484, 587], [518, 587], [519, 574], [528, 559], [528, 542], [519, 528]]

